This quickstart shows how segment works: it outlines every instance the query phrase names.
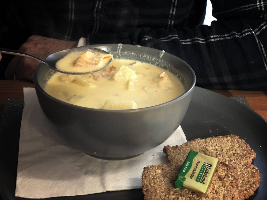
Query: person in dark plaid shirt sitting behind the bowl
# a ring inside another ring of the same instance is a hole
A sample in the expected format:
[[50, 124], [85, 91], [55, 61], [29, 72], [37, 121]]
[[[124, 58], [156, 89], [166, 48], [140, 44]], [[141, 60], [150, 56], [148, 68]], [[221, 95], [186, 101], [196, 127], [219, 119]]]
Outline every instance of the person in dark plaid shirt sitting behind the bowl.
[[[2, 12], [7, 17], [0, 26], [0, 46], [40, 58], [76, 47], [78, 41], [148, 46], [187, 62], [197, 86], [266, 91], [267, 1], [211, 3], [217, 21], [207, 26], [202, 24], [206, 0], [13, 0], [6, 5], [11, 13]], [[15, 56], [5, 76], [32, 81], [38, 64]]]

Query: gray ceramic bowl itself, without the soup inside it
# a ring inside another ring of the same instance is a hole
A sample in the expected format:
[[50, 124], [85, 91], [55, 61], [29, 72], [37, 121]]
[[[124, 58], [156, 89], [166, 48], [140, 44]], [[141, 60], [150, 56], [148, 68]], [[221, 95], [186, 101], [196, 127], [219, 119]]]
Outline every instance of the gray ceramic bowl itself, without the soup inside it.
[[138, 60], [167, 68], [181, 79], [186, 92], [172, 101], [146, 108], [91, 109], [47, 94], [45, 84], [55, 71], [40, 64], [34, 74], [38, 101], [46, 117], [56, 125], [58, 135], [75, 149], [112, 159], [142, 154], [164, 142], [178, 128], [189, 106], [196, 82], [191, 67], [172, 54], [149, 47], [103, 44], [78, 48], [89, 47], [108, 51], [116, 59]]

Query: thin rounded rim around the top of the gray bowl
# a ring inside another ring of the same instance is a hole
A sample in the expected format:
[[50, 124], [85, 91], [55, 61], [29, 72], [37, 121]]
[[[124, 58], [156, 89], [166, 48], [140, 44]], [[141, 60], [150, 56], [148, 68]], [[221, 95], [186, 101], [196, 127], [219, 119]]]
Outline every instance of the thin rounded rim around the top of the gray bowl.
[[[94, 47], [94, 48], [97, 48], [97, 47], [107, 47], [107, 46], [111, 46], [111, 45], [119, 45], [119, 44], [115, 44], [115, 43], [111, 43], [111, 44], [95, 44], [95, 45], [86, 45], [86, 47], [88, 48], [91, 48], [91, 47]], [[146, 46], [140, 46], [140, 45], [130, 45], [130, 44], [121, 44], [123, 46], [137, 46], [138, 48], [140, 47], [145, 47], [145, 48], [148, 48], [148, 49], [153, 49], [154, 51], [155, 50], [158, 50], [158, 51], [161, 51], [159, 49], [155, 49], [155, 48], [151, 48], [151, 47], [146, 47]], [[85, 46], [82, 46], [82, 47], [85, 47]], [[81, 47], [76, 47], [76, 48], [72, 48], [72, 49], [69, 49], [69, 50], [73, 50], [73, 49], [79, 49]], [[180, 61], [182, 63], [184, 63], [189, 72], [191, 73], [193, 79], [192, 79], [192, 83], [191, 85], [188, 87], [188, 89], [183, 93], [181, 94], [180, 96], [170, 100], [170, 101], [167, 101], [167, 102], [164, 102], [164, 103], [161, 103], [161, 104], [158, 104], [158, 105], [154, 105], [154, 106], [148, 106], [148, 107], [143, 107], [143, 108], [136, 108], [136, 109], [121, 109], [121, 110], [108, 110], [108, 109], [98, 109], [98, 108], [89, 108], [89, 107], [84, 107], [84, 106], [78, 106], [78, 105], [74, 105], [74, 104], [71, 104], [71, 103], [67, 103], [67, 102], [64, 102], [64, 101], [61, 101], [51, 95], [49, 95], [48, 93], [46, 93], [42, 87], [40, 86], [40, 84], [38, 83], [38, 71], [41, 69], [42, 66], [46, 66], [42, 63], [40, 63], [40, 65], [38, 65], [38, 67], [36, 68], [35, 72], [34, 72], [34, 77], [33, 77], [33, 83], [34, 83], [34, 86], [35, 88], [37, 87], [38, 90], [41, 91], [41, 93], [43, 93], [46, 97], [49, 97], [49, 98], [52, 98], [54, 101], [58, 102], [58, 103], [63, 103], [64, 105], [66, 106], [70, 106], [70, 107], [73, 107], [73, 108], [79, 108], [79, 109], [85, 109], [85, 110], [90, 110], [90, 111], [99, 111], [99, 112], [113, 112], [113, 113], [133, 113], [133, 112], [139, 112], [139, 111], [143, 111], [143, 110], [150, 110], [150, 109], [155, 109], [157, 107], [162, 107], [162, 106], [165, 106], [166, 104], [170, 104], [170, 103], [174, 103], [176, 101], [179, 101], [180, 99], [183, 99], [184, 97], [186, 97], [188, 94], [190, 94], [194, 87], [195, 87], [195, 84], [196, 84], [196, 75], [195, 75], [195, 72], [194, 70], [192, 69], [192, 67], [186, 63], [184, 60], [182, 60], [181, 58], [173, 55], [173, 54], [170, 54], [168, 52], [164, 52], [164, 54], [169, 54], [171, 56], [174, 56], [178, 59], [180, 59]], [[47, 66], [46, 66], [47, 67]]]

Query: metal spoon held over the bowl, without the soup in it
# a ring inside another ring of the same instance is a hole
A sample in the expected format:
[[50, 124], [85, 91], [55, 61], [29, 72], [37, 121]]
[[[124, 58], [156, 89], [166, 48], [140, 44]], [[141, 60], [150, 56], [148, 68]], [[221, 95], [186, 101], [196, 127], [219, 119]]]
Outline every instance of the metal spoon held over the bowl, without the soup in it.
[[111, 61], [112, 58], [110, 58], [110, 60], [103, 66], [100, 66], [100, 68], [95, 69], [95, 70], [90, 70], [90, 71], [85, 71], [85, 72], [70, 72], [70, 71], [62, 71], [56, 68], [56, 62], [63, 58], [65, 55], [67, 55], [68, 53], [70, 53], [71, 51], [91, 51], [92, 53], [102, 53], [102, 54], [109, 54], [107, 51], [104, 51], [102, 49], [97, 49], [97, 48], [88, 48], [88, 47], [77, 47], [77, 48], [73, 48], [73, 49], [67, 49], [67, 50], [63, 50], [63, 51], [58, 51], [56, 53], [53, 53], [51, 55], [49, 55], [46, 59], [42, 59], [42, 58], [38, 58], [34, 55], [25, 53], [23, 51], [17, 51], [17, 50], [12, 50], [12, 49], [5, 49], [5, 48], [1, 48], [0, 47], [0, 53], [4, 53], [4, 54], [12, 54], [12, 55], [19, 55], [19, 56], [24, 56], [24, 57], [29, 57], [29, 58], [33, 58], [41, 63], [44, 63], [45, 65], [49, 66], [50, 68], [52, 68], [53, 70], [56, 70], [58, 72], [61, 73], [65, 73], [65, 74], [88, 74], [88, 73], [92, 73], [95, 71], [99, 71], [101, 69], [104, 69], [105, 67], [107, 67]]

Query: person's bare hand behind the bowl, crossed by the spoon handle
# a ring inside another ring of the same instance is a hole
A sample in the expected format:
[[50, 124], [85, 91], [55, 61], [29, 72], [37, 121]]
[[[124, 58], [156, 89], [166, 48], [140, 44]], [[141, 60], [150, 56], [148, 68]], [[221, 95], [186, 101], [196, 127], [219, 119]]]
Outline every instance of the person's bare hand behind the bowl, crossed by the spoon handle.
[[[65, 49], [77, 47], [77, 41], [65, 41], [53, 38], [32, 35], [21, 45], [19, 51], [23, 51], [36, 57], [46, 59], [49, 55]], [[16, 55], [7, 66], [6, 79], [33, 81], [34, 71], [40, 62], [33, 58], [27, 58]]]

